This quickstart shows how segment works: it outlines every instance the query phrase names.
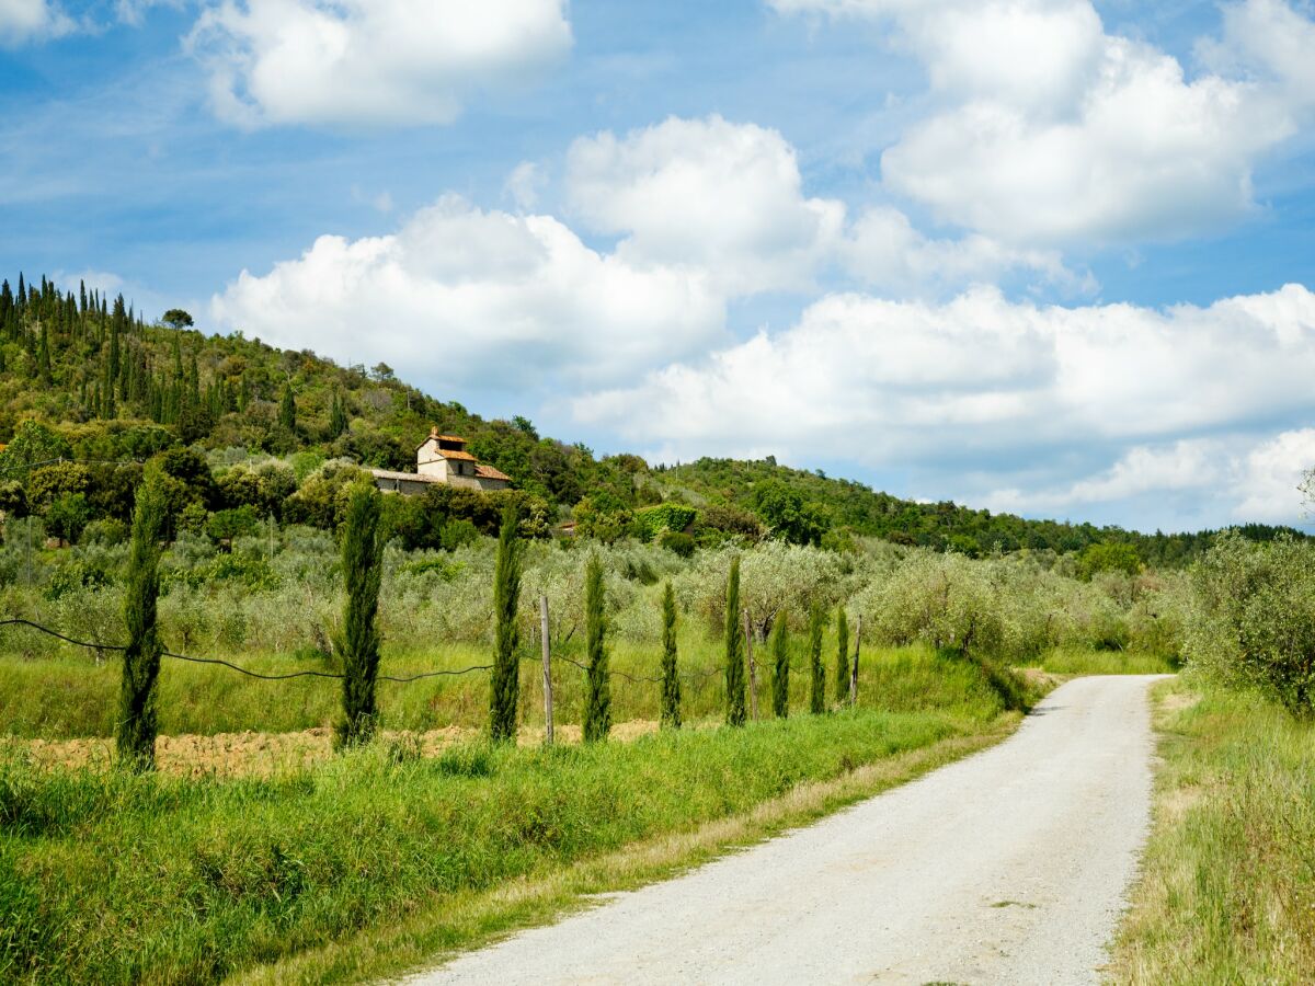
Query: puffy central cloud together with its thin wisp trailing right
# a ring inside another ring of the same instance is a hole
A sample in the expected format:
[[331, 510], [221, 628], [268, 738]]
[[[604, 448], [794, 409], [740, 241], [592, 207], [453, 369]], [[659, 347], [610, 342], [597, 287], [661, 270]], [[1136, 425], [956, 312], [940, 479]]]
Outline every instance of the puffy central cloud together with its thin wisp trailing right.
[[[509, 181], [518, 201], [526, 167]], [[892, 206], [851, 223], [843, 202], [803, 192], [794, 147], [778, 131], [719, 116], [577, 139], [565, 191], [588, 229], [621, 237], [618, 256], [704, 270], [732, 297], [807, 289], [831, 264], [897, 294], [942, 293], [1014, 271], [1068, 293], [1093, 287], [1057, 251], [981, 234], [928, 238]]]

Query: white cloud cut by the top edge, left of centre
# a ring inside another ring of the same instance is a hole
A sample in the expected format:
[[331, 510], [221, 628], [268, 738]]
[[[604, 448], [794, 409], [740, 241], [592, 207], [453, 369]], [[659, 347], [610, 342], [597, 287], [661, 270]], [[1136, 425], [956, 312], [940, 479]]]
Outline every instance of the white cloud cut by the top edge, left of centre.
[[446, 124], [475, 85], [567, 53], [565, 0], [224, 0], [188, 47], [242, 126]]

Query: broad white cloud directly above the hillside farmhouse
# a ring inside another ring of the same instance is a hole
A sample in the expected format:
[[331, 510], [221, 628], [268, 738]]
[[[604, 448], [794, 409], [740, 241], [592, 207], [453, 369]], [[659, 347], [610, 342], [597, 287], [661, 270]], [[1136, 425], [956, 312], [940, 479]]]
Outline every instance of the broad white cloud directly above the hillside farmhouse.
[[723, 339], [700, 272], [636, 270], [548, 216], [481, 212], [455, 196], [396, 234], [320, 237], [212, 301], [227, 327], [352, 362], [384, 360], [434, 389], [542, 396], [613, 381]]

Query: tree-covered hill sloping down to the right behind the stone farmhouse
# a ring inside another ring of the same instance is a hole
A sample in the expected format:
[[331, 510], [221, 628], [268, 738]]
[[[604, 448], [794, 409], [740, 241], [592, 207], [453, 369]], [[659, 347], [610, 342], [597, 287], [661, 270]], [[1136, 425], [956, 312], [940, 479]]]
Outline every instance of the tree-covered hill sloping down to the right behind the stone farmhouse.
[[[584, 446], [539, 435], [526, 418], [487, 421], [455, 401], [425, 394], [384, 364], [341, 367], [241, 333], [204, 335], [191, 322], [185, 312], [171, 310], [149, 323], [122, 296], [108, 298], [83, 284], [74, 291], [47, 277], [5, 280], [0, 442], [34, 418], [59, 431], [74, 458], [87, 463], [199, 446], [409, 469], [416, 446], [438, 426], [467, 438], [471, 451], [512, 476], [517, 488], [563, 517], [573, 513], [581, 532], [605, 538], [642, 530], [636, 511], [664, 500], [702, 507], [702, 532], [713, 539], [753, 536], [765, 522], [814, 543], [868, 535], [968, 553], [1127, 543], [1148, 563], [1178, 564], [1212, 538], [914, 504], [771, 460], [701, 459], [651, 469], [634, 455], [600, 459]], [[1278, 530], [1252, 526], [1248, 532], [1268, 539]]]

